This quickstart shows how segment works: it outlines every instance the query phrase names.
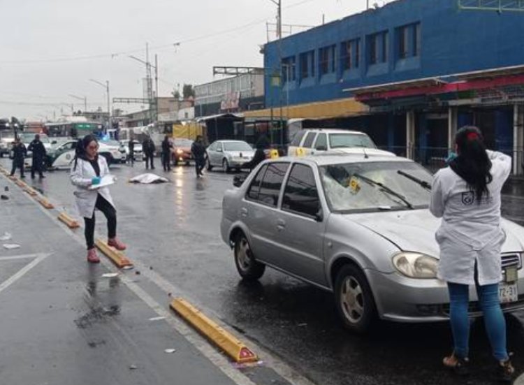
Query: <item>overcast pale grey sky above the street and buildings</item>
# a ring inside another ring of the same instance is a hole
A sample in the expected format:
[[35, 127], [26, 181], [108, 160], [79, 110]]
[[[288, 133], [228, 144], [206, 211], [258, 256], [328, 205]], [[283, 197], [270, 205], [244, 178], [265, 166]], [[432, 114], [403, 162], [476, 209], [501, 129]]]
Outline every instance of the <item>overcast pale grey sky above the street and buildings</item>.
[[[318, 25], [322, 15], [329, 22], [365, 5], [282, 0], [282, 20]], [[259, 45], [276, 10], [270, 0], [0, 0], [0, 117], [59, 117], [71, 103], [84, 110], [70, 95], [107, 110], [105, 89], [89, 79], [109, 80], [111, 98], [143, 97], [145, 65], [129, 55], [145, 59], [146, 43], [152, 64], [158, 55], [159, 96], [178, 83], [212, 81], [212, 66], [262, 66]]]

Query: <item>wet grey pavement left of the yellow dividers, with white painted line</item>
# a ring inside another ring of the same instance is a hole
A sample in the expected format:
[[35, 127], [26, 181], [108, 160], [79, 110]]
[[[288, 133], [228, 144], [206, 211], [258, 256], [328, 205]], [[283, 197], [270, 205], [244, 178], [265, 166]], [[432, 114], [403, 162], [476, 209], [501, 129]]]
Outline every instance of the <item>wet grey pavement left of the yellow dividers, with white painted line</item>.
[[240, 383], [122, 283], [139, 277], [133, 270], [103, 277], [108, 265], [88, 264], [85, 247], [27, 194], [1, 175], [0, 188], [9, 197], [0, 237], [12, 235], [0, 241], [2, 384]]

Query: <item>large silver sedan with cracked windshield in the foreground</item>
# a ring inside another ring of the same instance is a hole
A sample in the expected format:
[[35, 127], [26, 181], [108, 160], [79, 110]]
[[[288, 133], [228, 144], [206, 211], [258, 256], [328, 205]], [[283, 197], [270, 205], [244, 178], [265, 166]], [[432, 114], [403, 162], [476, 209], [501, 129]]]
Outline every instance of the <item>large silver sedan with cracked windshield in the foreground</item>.
[[[226, 191], [221, 236], [244, 279], [270, 266], [332, 291], [347, 328], [376, 318], [449, 319], [436, 277], [440, 219], [429, 210], [432, 175], [400, 157], [326, 155], [264, 161]], [[524, 307], [524, 228], [502, 220], [505, 312]], [[470, 292], [472, 317], [481, 313]]]

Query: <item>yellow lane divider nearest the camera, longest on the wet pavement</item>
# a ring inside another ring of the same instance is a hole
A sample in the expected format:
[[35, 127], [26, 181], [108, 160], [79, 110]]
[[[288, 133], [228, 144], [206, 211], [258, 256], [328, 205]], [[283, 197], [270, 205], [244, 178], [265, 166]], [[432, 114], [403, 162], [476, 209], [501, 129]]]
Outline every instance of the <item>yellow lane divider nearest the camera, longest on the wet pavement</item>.
[[259, 361], [256, 354], [249, 350], [245, 344], [206, 317], [187, 300], [180, 297], [175, 298], [171, 302], [170, 307], [211, 342], [224, 350], [235, 362], [249, 363]]

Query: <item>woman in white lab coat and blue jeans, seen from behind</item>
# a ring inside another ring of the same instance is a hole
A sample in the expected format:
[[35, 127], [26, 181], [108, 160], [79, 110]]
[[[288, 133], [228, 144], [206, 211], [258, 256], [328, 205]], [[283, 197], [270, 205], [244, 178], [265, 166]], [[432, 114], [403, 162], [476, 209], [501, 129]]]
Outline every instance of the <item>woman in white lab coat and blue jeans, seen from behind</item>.
[[456, 157], [439, 170], [432, 183], [430, 210], [442, 223], [435, 234], [440, 247], [437, 276], [447, 282], [453, 353], [445, 366], [469, 372], [469, 286], [476, 285], [479, 305], [497, 360], [497, 375], [511, 381], [514, 368], [506, 347], [506, 324], [498, 286], [500, 251], [506, 235], [500, 226], [500, 191], [511, 170], [511, 158], [487, 151], [479, 129], [466, 126], [455, 138]]

